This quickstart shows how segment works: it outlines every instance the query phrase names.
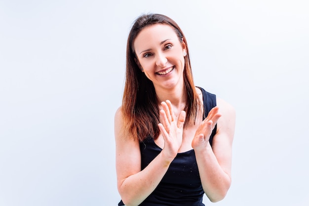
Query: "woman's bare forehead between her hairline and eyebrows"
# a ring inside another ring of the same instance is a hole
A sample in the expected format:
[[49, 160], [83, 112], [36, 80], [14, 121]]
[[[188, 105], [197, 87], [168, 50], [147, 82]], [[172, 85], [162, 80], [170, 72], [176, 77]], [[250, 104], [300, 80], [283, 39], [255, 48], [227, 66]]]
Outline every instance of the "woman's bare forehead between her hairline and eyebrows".
[[133, 42], [133, 46], [136, 50], [141, 46], [144, 48], [160, 44], [161, 41], [167, 39], [178, 40], [174, 28], [166, 24], [154, 24], [140, 31]]

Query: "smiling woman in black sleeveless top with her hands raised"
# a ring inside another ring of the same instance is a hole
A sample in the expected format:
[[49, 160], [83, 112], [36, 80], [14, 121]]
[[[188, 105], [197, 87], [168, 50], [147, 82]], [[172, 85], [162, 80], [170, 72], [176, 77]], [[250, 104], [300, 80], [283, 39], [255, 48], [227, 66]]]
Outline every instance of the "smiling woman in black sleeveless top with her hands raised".
[[204, 206], [231, 185], [232, 106], [193, 83], [188, 45], [169, 17], [145, 14], [127, 41], [115, 115], [118, 206]]

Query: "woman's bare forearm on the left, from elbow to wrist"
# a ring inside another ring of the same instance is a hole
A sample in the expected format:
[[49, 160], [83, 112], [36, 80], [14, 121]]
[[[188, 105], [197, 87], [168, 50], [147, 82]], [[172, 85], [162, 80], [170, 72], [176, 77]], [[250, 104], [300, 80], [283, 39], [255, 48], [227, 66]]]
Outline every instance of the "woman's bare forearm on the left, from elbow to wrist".
[[118, 191], [126, 206], [138, 206], [157, 187], [172, 160], [168, 161], [161, 152], [142, 171], [125, 178]]

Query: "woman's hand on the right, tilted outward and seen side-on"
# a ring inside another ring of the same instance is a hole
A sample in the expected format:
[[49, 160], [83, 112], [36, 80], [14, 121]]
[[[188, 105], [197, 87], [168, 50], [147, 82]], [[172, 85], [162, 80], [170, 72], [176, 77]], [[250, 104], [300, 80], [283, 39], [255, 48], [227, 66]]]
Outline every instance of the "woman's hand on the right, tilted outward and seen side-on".
[[208, 116], [196, 129], [194, 138], [192, 140], [192, 148], [194, 151], [205, 150], [209, 143], [209, 137], [214, 129], [217, 121], [221, 117], [219, 114], [219, 107], [214, 107], [208, 113]]

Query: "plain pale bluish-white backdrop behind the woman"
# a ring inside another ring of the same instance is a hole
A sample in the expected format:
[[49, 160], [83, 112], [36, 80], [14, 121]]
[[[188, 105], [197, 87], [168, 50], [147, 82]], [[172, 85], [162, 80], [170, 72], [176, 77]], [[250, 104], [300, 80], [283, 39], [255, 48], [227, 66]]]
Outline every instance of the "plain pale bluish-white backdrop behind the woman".
[[307, 0], [0, 0], [0, 206], [116, 206], [114, 114], [141, 13], [183, 29], [195, 84], [236, 109], [217, 206], [309, 205]]

